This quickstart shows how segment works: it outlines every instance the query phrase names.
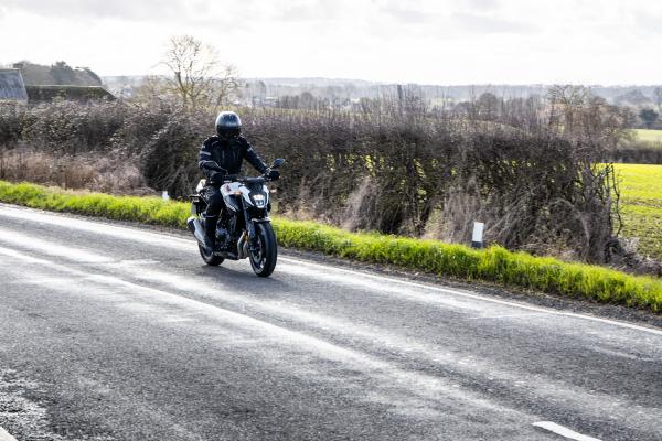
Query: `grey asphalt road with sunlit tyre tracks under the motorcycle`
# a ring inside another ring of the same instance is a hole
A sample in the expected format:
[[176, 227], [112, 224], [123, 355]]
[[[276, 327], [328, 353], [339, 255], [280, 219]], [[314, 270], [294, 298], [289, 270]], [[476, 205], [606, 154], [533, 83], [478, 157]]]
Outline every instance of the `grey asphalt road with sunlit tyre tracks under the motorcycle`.
[[0, 287], [19, 441], [662, 439], [653, 327], [9, 205]]

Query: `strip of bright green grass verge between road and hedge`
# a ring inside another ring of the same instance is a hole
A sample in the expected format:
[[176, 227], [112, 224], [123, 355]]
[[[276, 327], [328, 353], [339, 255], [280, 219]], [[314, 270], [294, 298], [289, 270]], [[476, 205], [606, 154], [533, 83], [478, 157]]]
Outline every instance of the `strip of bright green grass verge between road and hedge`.
[[[0, 181], [0, 202], [35, 208], [184, 227], [189, 204], [157, 197], [110, 196]], [[277, 217], [278, 241], [361, 261], [395, 265], [462, 280], [482, 280], [599, 302], [662, 311], [662, 280], [608, 268], [568, 263], [511, 252], [501, 247], [476, 250], [437, 240], [354, 234], [312, 222]]]

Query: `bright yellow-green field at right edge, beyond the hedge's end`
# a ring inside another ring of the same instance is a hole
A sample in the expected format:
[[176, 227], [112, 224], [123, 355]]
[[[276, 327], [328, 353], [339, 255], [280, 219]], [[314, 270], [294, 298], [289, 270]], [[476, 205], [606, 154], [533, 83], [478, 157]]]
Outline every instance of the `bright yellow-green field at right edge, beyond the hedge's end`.
[[639, 238], [641, 254], [662, 260], [662, 165], [616, 168], [620, 176], [623, 236]]

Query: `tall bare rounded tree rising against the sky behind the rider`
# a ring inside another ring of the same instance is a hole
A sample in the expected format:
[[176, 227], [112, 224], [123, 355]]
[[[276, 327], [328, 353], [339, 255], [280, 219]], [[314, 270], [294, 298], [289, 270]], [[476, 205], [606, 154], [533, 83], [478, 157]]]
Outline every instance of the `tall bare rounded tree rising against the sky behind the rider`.
[[172, 72], [168, 78], [171, 92], [186, 107], [211, 106], [215, 110], [239, 87], [236, 68], [222, 65], [215, 47], [191, 35], [171, 37], [162, 64]]

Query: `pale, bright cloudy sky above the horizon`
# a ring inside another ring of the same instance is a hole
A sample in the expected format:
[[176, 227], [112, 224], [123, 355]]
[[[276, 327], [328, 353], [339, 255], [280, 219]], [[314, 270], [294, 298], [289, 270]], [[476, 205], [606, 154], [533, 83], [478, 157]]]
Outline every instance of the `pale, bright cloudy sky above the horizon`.
[[662, 84], [656, 0], [0, 0], [0, 64], [162, 74], [173, 35], [244, 77]]

